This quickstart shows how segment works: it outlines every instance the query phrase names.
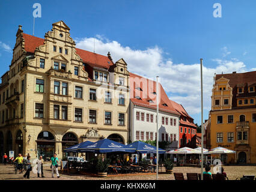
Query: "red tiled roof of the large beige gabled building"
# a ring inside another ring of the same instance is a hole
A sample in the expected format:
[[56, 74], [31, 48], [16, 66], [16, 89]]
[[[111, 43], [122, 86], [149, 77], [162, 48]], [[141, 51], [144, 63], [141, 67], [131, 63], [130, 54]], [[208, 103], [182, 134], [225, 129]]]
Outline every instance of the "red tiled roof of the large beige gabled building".
[[[25, 50], [29, 53], [34, 53], [35, 48], [43, 45], [44, 39], [39, 37], [34, 37], [32, 35], [24, 34], [23, 38], [25, 40]], [[114, 63], [108, 58], [108, 56], [100, 55], [93, 52], [88, 52], [87, 50], [82, 50], [76, 48], [76, 53], [81, 56], [83, 62], [87, 63], [91, 67], [106, 68], [107, 70]]]

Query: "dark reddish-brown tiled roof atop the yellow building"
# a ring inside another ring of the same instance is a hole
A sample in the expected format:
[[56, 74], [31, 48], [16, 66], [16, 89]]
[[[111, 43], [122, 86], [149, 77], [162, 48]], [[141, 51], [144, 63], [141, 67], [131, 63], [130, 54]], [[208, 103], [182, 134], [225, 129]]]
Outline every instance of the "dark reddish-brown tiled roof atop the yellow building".
[[216, 80], [221, 77], [229, 79], [230, 86], [234, 88], [237, 84], [254, 83], [256, 82], [256, 71], [246, 73], [228, 73], [228, 74], [216, 74]]

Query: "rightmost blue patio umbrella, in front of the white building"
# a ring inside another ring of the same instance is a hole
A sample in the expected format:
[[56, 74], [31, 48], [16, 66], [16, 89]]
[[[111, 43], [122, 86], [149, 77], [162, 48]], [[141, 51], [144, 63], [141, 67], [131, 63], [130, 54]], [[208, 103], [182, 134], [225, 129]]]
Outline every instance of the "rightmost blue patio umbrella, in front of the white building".
[[[135, 148], [137, 154], [156, 154], [156, 146], [149, 145], [144, 142], [133, 142], [127, 145], [130, 148]], [[165, 150], [158, 148], [159, 154], [164, 154]]]

